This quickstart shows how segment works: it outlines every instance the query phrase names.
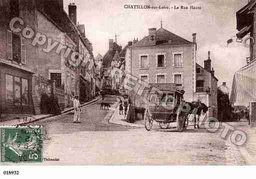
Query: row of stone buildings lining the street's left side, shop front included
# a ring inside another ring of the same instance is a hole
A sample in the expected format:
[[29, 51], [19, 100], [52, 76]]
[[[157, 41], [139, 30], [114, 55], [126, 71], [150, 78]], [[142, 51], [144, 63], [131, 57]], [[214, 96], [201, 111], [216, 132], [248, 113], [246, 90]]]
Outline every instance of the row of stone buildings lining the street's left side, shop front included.
[[[74, 4], [71, 6], [76, 10]], [[0, 12], [0, 102], [3, 112], [35, 113], [35, 106], [40, 102], [41, 78], [55, 80], [54, 86], [59, 90], [54, 92], [60, 96], [61, 107], [68, 105], [70, 95], [81, 96], [80, 81], [85, 76], [89, 90], [86, 90], [88, 93], [82, 91], [82, 95], [90, 98], [94, 95], [92, 45], [85, 36], [84, 25], [74, 24], [63, 10], [63, 0], [2, 0]], [[9, 26], [13, 17], [17, 17], [14, 30]], [[73, 52], [77, 52], [76, 58], [84, 63], [71, 64]]]

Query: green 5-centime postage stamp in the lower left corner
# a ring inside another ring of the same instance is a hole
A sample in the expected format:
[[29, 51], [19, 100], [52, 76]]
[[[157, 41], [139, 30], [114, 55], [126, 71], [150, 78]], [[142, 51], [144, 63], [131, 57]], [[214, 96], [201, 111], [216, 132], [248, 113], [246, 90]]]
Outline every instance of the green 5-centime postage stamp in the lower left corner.
[[0, 127], [1, 162], [42, 162], [43, 128]]

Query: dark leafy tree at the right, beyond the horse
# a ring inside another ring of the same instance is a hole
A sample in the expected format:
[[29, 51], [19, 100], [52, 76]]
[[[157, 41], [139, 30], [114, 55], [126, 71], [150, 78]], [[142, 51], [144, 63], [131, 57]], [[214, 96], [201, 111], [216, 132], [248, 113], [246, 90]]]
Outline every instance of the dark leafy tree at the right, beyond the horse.
[[229, 121], [231, 119], [232, 105], [229, 95], [218, 88], [218, 120]]

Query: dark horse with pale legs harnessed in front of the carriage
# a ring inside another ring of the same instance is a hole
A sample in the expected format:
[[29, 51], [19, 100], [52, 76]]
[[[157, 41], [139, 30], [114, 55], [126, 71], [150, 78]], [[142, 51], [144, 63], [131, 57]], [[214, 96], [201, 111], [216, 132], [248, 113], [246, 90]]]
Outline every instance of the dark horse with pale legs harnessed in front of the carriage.
[[[182, 109], [181, 111], [183, 113], [185, 113], [185, 117], [187, 118], [187, 126], [189, 124], [189, 118], [191, 115], [193, 115], [194, 117], [194, 128], [199, 129], [199, 118], [200, 116], [203, 114], [205, 114], [209, 107], [207, 107], [204, 103], [202, 103], [201, 101], [193, 101], [193, 102], [183, 102], [183, 104], [181, 105]], [[184, 125], [186, 125], [184, 123]]]

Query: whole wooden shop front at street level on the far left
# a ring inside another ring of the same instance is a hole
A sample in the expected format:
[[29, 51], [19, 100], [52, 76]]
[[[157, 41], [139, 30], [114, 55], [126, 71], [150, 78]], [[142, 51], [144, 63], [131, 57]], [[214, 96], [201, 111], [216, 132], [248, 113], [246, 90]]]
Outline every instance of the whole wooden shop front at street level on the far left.
[[1, 113], [33, 114], [32, 72], [0, 63]]

